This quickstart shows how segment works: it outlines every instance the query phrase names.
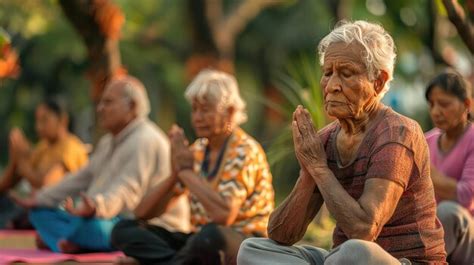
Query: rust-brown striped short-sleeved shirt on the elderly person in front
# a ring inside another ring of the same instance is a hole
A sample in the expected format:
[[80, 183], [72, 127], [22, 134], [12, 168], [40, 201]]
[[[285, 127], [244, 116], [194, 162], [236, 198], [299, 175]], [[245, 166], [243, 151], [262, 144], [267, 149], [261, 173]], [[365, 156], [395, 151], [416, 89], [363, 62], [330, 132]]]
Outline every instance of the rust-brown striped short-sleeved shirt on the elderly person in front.
[[[361, 143], [357, 157], [342, 165], [336, 147], [340, 131], [335, 121], [319, 133], [328, 165], [344, 189], [359, 199], [369, 178], [398, 183], [404, 192], [393, 216], [375, 243], [396, 258], [414, 264], [446, 264], [443, 229], [436, 218], [436, 202], [430, 178], [428, 146], [419, 125], [387, 108], [376, 117]], [[349, 238], [337, 226], [334, 247]]]

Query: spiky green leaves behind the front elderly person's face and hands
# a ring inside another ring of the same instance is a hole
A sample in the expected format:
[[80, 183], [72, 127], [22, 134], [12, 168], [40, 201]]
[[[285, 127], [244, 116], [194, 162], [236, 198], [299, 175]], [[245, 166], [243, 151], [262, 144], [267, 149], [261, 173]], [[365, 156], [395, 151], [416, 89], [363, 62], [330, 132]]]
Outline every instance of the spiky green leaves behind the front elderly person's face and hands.
[[[273, 84], [283, 97], [283, 102], [276, 103], [263, 96], [255, 96], [268, 108], [277, 112], [283, 119], [283, 124], [276, 125], [267, 147], [267, 157], [277, 187], [277, 201], [281, 201], [293, 186], [298, 176], [299, 165], [294, 156], [291, 121], [293, 111], [298, 105], [303, 105], [311, 113], [316, 129], [326, 125], [327, 120], [323, 110], [322, 91], [319, 84], [321, 71], [315, 62], [315, 57], [301, 55], [287, 67], [287, 72], [275, 72]], [[283, 188], [282, 188], [283, 187]]]

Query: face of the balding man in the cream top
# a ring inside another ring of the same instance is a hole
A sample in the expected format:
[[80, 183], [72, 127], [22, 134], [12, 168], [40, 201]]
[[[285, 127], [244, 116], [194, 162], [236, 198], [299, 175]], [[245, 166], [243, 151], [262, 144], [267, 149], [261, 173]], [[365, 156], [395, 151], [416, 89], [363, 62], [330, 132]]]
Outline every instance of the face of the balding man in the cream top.
[[134, 111], [131, 102], [123, 94], [123, 83], [109, 85], [97, 106], [99, 123], [112, 134], [119, 133], [133, 119]]

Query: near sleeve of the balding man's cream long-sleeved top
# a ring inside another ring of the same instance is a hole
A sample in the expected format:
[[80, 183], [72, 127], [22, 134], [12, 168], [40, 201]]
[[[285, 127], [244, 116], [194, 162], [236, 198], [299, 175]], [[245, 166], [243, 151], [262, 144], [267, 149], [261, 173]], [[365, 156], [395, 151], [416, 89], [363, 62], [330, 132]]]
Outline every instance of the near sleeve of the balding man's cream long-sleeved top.
[[[127, 160], [121, 165], [120, 173], [115, 176], [116, 181], [111, 183], [109, 188], [92, 197], [96, 204], [97, 217], [112, 218], [117, 216], [124, 208], [135, 209], [147, 192], [147, 187], [152, 182], [150, 178], [154, 176], [155, 169], [160, 164], [159, 161], [169, 163], [167, 159], [169, 156], [166, 155], [169, 148], [163, 146], [160, 147], [163, 152], [157, 152], [156, 145], [150, 145], [148, 141], [132, 144], [135, 146], [128, 150]], [[137, 144], [138, 146], [136, 146]], [[158, 157], [159, 154], [161, 154], [161, 157]]]

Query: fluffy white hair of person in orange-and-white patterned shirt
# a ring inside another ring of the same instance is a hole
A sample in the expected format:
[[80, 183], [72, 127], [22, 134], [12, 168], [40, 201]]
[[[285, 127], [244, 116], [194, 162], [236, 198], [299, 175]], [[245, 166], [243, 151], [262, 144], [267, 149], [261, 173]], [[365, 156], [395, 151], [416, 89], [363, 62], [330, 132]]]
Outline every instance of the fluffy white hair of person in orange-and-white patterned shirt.
[[205, 69], [193, 79], [184, 92], [186, 99], [206, 101], [221, 108], [233, 107], [233, 122], [240, 125], [247, 121], [245, 102], [240, 97], [237, 80], [227, 73]]

